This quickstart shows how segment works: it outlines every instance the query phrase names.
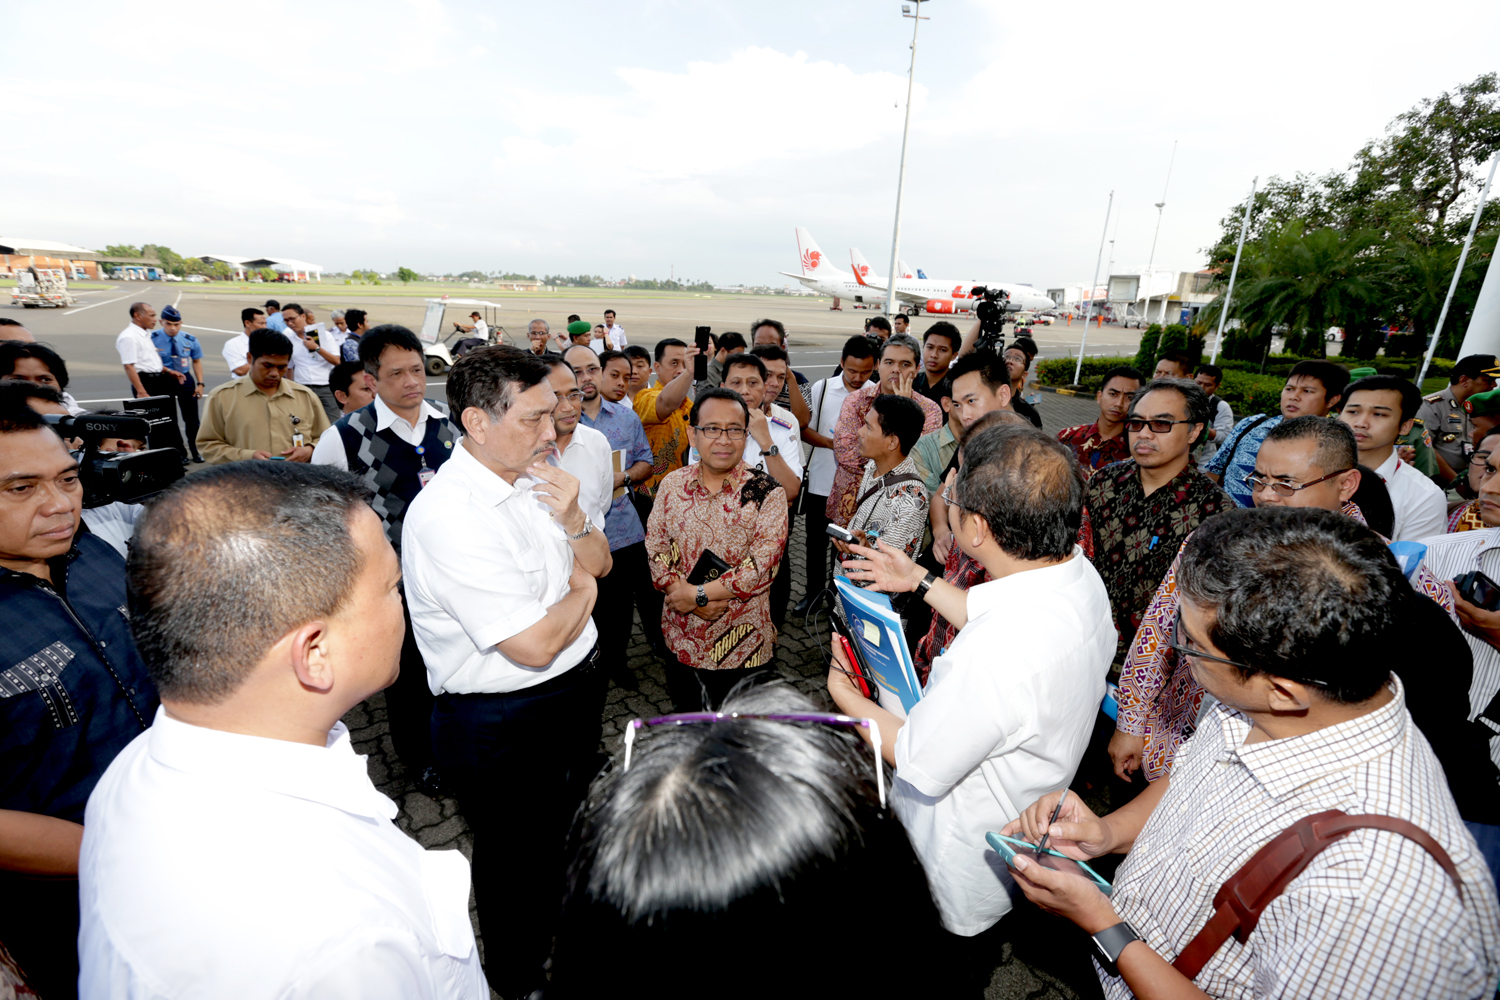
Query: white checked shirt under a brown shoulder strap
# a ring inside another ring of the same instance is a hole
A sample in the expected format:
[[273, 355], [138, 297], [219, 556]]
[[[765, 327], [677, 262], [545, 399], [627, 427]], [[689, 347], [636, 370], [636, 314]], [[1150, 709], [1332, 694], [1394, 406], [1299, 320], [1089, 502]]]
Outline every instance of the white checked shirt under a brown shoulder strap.
[[[1250, 721], [1215, 705], [1120, 865], [1113, 904], [1172, 961], [1208, 924], [1220, 886], [1276, 834], [1324, 810], [1395, 816], [1426, 831], [1464, 883], [1416, 843], [1359, 829], [1318, 855], [1194, 984], [1210, 997], [1484, 997], [1500, 976], [1494, 882], [1426, 739], [1390, 702], [1302, 736], [1245, 744]], [[1104, 993], [1132, 996], [1100, 973]]]

